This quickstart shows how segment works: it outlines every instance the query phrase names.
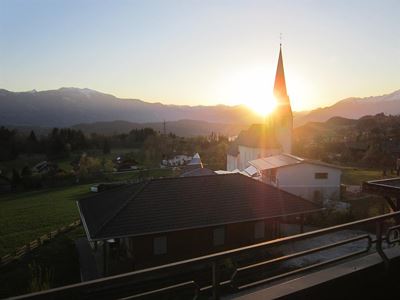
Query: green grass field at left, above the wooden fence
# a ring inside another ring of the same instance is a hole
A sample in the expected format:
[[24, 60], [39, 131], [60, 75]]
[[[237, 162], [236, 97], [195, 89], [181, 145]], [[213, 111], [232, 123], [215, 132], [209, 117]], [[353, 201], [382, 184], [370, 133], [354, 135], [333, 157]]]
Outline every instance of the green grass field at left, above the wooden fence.
[[0, 196], [0, 256], [79, 218], [75, 201], [89, 195], [77, 185]]

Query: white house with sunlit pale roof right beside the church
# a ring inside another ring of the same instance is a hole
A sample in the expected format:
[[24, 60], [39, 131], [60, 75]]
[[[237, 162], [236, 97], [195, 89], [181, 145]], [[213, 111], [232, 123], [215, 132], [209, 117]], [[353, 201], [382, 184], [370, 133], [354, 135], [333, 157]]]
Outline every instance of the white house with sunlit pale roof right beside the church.
[[320, 161], [279, 154], [250, 161], [261, 181], [311, 200], [339, 200], [342, 171]]

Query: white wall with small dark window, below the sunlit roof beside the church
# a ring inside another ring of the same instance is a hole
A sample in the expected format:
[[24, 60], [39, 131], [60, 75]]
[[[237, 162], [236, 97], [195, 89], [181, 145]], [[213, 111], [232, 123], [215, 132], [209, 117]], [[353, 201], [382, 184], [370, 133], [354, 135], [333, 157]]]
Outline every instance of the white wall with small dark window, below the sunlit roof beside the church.
[[[315, 173], [327, 173], [328, 178], [316, 179]], [[279, 188], [309, 200], [339, 200], [341, 170], [321, 165], [302, 163], [277, 169]]]

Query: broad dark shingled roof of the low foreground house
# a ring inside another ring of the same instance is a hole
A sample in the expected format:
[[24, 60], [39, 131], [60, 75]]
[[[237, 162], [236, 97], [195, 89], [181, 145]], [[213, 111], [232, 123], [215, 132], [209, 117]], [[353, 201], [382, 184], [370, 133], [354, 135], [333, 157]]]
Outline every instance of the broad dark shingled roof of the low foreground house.
[[261, 220], [320, 207], [241, 174], [175, 177], [78, 201], [91, 240]]

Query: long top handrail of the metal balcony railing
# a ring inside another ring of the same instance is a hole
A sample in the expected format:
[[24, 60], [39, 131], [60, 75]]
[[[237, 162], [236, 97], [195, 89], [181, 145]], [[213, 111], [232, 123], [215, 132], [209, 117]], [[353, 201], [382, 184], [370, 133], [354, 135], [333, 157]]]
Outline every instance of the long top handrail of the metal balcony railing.
[[245, 246], [245, 247], [236, 248], [236, 249], [232, 249], [232, 250], [212, 253], [209, 255], [191, 258], [191, 259], [187, 259], [187, 260], [181, 260], [181, 261], [177, 261], [177, 262], [173, 262], [173, 263], [169, 263], [169, 264], [164, 264], [161, 266], [156, 266], [156, 267], [132, 271], [132, 272], [124, 273], [124, 274], [94, 279], [94, 280], [86, 281], [86, 282], [75, 283], [72, 285], [62, 286], [62, 287], [54, 288], [51, 290], [36, 292], [36, 293], [32, 293], [32, 294], [21, 295], [21, 296], [12, 298], [12, 299], [23, 299], [26, 296], [39, 296], [39, 295], [44, 295], [47, 293], [54, 293], [54, 292], [58, 292], [58, 291], [68, 290], [68, 289], [75, 290], [75, 289], [79, 289], [79, 288], [85, 287], [85, 286], [91, 286], [91, 285], [96, 286], [97, 284], [101, 285], [102, 283], [106, 283], [106, 282], [112, 284], [114, 281], [117, 281], [117, 280], [129, 280], [137, 275], [143, 275], [146, 273], [152, 273], [152, 272], [156, 272], [156, 271], [160, 271], [160, 270], [172, 269], [172, 268], [181, 267], [181, 266], [188, 265], [188, 264], [197, 265], [199, 263], [203, 263], [203, 264], [211, 263], [211, 262], [219, 261], [226, 257], [239, 255], [246, 251], [257, 250], [257, 249], [261, 249], [261, 248], [265, 248], [265, 247], [269, 247], [269, 246], [277, 246], [277, 245], [281, 245], [284, 243], [302, 240], [302, 239], [306, 239], [306, 238], [312, 238], [312, 237], [320, 236], [323, 234], [331, 233], [334, 231], [344, 230], [344, 229], [354, 227], [357, 225], [368, 224], [368, 223], [377, 223], [377, 222], [379, 223], [385, 219], [390, 219], [390, 218], [396, 217], [396, 216], [400, 217], [400, 211], [391, 212], [391, 213], [379, 215], [376, 217], [361, 219], [361, 220], [357, 220], [357, 221], [353, 221], [353, 222], [349, 222], [349, 223], [345, 223], [345, 224], [335, 225], [335, 226], [331, 226], [328, 228], [322, 228], [322, 229], [318, 229], [318, 230], [314, 230], [314, 231], [310, 231], [310, 232], [306, 232], [306, 233], [300, 233], [300, 234], [283, 237], [283, 238], [276, 239], [276, 240], [253, 244], [250, 246]]

